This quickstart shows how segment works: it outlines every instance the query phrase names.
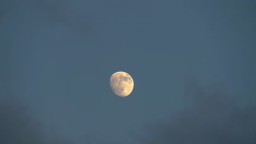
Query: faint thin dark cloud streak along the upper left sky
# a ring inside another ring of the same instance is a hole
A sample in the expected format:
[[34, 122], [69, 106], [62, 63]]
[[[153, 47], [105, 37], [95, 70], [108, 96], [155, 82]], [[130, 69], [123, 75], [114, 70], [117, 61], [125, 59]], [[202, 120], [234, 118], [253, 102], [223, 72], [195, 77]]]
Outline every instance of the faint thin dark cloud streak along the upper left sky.
[[8, 17], [9, 13], [19, 11], [21, 15], [26, 15], [30, 23], [35, 26], [43, 24], [54, 28], [65, 27], [74, 34], [91, 34], [94, 31], [92, 16], [88, 13], [81, 13], [75, 8], [71, 8], [70, 5], [72, 3], [63, 1], [4, 0], [0, 2], [0, 20], [3, 17]]

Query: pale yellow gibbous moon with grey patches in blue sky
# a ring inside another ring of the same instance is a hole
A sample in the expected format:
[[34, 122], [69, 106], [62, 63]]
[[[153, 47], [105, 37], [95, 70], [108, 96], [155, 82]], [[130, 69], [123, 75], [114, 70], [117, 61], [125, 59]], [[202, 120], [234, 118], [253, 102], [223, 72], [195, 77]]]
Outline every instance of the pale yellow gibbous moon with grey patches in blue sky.
[[110, 77], [112, 91], [120, 97], [128, 96], [133, 89], [132, 77], [124, 71], [118, 71]]

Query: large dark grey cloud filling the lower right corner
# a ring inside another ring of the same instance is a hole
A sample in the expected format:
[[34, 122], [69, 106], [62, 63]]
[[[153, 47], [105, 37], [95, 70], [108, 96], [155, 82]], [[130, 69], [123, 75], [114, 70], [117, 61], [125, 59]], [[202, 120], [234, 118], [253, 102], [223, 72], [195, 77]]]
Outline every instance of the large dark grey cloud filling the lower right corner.
[[224, 88], [189, 82], [184, 109], [149, 125], [142, 143], [256, 143], [256, 106], [238, 102]]

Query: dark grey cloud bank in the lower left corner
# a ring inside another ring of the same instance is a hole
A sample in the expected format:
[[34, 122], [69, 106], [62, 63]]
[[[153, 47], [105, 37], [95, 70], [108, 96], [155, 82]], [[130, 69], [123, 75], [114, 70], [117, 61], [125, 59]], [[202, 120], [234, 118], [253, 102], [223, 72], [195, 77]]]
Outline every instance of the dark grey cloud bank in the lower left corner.
[[[44, 133], [42, 125], [18, 99], [0, 101], [0, 143], [4, 144], [69, 144], [63, 137]], [[50, 140], [47, 140], [51, 137]]]

